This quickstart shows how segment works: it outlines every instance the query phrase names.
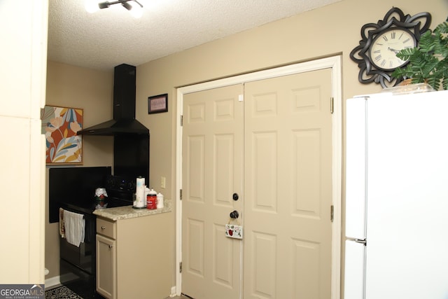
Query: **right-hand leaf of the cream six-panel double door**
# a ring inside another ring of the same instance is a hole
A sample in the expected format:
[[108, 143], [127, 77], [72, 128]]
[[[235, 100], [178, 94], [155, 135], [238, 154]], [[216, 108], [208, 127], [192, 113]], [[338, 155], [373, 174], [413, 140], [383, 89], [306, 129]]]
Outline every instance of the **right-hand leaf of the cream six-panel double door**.
[[331, 71], [246, 83], [244, 298], [330, 298]]

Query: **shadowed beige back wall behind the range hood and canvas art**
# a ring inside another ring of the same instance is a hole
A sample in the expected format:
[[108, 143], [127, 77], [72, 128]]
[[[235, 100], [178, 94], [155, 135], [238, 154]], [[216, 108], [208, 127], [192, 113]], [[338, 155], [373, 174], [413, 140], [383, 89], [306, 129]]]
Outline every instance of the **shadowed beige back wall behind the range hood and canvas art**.
[[[84, 109], [84, 126], [112, 118], [113, 70], [94, 71], [57, 62], [47, 64], [46, 104]], [[111, 166], [113, 137], [83, 137], [83, 166]], [[48, 222], [48, 169], [45, 169], [45, 267], [59, 275], [58, 223]], [[92, 195], [93, 196], [93, 195]]]

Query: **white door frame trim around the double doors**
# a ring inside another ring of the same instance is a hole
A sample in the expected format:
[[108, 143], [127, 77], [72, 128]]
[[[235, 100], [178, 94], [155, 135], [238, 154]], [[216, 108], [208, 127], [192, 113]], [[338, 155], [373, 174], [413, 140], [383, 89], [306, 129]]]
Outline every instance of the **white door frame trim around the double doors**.
[[[331, 270], [331, 299], [339, 299], [341, 282], [341, 230], [342, 230], [342, 67], [341, 57], [326, 57], [309, 62], [290, 64], [249, 74], [222, 78], [215, 81], [188, 85], [177, 89], [176, 113], [176, 295], [181, 295], [182, 275], [179, 265], [182, 261], [182, 126], [183, 95], [212, 88], [221, 88], [228, 85], [243, 84], [267, 78], [276, 78], [318, 69], [332, 69], [332, 270]], [[330, 109], [330, 107], [328, 107]]]

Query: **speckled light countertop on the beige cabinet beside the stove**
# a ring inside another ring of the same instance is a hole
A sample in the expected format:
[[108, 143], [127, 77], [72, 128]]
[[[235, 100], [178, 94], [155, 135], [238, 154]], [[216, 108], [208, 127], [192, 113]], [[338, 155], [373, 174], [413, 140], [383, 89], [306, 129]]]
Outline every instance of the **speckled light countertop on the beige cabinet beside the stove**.
[[112, 221], [117, 221], [120, 219], [151, 216], [172, 211], [171, 200], [165, 200], [164, 205], [165, 207], [161, 209], [134, 209], [132, 206], [96, 209], [93, 211], [93, 214]]

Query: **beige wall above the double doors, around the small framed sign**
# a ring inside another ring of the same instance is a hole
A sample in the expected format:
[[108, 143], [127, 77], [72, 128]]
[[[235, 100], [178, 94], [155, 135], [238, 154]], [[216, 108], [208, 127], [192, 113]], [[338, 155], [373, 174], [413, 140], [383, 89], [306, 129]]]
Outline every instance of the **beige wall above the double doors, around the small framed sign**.
[[[160, 176], [167, 176], [165, 193], [170, 198], [174, 194], [176, 88], [342, 55], [343, 97], [379, 92], [377, 84], [358, 83], [358, 66], [349, 53], [359, 44], [360, 28], [383, 18], [392, 6], [410, 15], [428, 11], [433, 25], [448, 15], [446, 0], [342, 0], [138, 66], [136, 116], [151, 130], [150, 185], [160, 186]], [[165, 92], [169, 93], [168, 113], [148, 115], [148, 96]]]

